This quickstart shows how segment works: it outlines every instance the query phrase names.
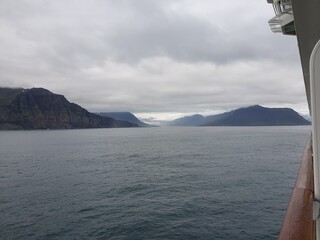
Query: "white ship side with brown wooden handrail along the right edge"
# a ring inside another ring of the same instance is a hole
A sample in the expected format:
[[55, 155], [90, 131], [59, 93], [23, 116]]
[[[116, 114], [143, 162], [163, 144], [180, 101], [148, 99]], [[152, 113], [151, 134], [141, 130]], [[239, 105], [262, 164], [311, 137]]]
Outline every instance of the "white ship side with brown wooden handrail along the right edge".
[[268, 21], [271, 30], [297, 38], [312, 116], [312, 134], [279, 239], [320, 240], [320, 0], [267, 2], [272, 4], [275, 12], [275, 16]]

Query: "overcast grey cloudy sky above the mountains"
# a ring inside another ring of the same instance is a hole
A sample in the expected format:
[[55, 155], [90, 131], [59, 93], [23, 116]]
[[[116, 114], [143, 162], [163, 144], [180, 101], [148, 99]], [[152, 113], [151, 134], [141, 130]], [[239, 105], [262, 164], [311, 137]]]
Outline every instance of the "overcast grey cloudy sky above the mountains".
[[261, 104], [307, 114], [297, 40], [265, 0], [0, 0], [0, 86], [145, 121]]

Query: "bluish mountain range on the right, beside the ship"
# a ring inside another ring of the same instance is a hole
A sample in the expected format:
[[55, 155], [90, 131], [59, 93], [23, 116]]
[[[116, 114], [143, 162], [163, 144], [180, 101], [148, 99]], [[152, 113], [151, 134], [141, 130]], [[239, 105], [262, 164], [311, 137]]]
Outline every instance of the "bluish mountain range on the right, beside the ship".
[[199, 114], [178, 118], [170, 126], [285, 126], [310, 125], [310, 122], [291, 108], [266, 108], [254, 105], [222, 114]]

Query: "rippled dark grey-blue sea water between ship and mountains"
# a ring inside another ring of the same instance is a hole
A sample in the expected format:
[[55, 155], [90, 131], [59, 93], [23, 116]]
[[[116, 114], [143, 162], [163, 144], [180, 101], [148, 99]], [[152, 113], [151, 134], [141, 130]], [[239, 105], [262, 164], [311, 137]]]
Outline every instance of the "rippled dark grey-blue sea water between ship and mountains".
[[0, 239], [276, 239], [310, 127], [0, 132]]

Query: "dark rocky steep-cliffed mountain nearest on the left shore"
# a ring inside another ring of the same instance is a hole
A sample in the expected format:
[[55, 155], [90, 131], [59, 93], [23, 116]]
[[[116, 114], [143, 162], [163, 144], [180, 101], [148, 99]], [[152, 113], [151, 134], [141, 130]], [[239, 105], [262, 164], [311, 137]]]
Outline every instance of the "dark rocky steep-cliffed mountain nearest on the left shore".
[[138, 127], [102, 117], [43, 88], [0, 88], [0, 129]]

